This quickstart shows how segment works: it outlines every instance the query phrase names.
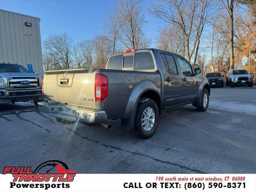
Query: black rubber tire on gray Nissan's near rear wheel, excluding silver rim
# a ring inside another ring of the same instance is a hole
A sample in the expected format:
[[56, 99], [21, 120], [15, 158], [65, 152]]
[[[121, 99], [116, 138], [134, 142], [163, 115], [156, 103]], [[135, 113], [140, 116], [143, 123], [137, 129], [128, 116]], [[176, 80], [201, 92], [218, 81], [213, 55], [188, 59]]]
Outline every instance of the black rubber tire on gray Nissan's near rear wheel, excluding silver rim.
[[[153, 127], [150, 130], [145, 130], [142, 126], [142, 115], [144, 111], [148, 108], [152, 108], [154, 110], [154, 124]], [[159, 110], [156, 102], [154, 100], [149, 98], [140, 98], [136, 110], [136, 116], [134, 121], [134, 134], [135, 136], [142, 138], [142, 139], [148, 139], [154, 135], [156, 132], [156, 128], [158, 126], [158, 120], [159, 120]]]

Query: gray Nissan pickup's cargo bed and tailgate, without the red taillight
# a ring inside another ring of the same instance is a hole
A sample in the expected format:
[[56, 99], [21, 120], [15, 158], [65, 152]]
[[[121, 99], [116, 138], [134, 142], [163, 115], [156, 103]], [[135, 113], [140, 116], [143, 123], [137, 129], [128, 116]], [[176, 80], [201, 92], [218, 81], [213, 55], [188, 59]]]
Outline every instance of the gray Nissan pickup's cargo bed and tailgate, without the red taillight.
[[[108, 96], [102, 101], [95, 101], [96, 74], [108, 78]], [[110, 69], [48, 71], [44, 75], [44, 97], [48, 102], [72, 108], [104, 110], [108, 119], [119, 119], [123, 117], [136, 85], [146, 80], [161, 87], [158, 72]]]

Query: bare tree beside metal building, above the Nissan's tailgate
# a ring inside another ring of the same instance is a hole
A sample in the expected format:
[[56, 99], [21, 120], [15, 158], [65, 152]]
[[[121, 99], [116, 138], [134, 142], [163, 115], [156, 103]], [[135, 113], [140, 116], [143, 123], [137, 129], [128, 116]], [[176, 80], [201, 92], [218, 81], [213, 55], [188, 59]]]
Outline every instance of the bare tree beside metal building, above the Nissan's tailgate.
[[71, 46], [72, 38], [67, 34], [51, 35], [43, 42], [44, 60], [58, 69], [72, 68]]

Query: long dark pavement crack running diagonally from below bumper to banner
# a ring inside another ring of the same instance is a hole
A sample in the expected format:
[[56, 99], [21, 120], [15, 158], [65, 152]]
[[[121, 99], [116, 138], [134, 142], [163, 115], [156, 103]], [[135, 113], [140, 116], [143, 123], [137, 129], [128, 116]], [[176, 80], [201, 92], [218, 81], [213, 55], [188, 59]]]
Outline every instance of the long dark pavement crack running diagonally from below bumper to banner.
[[[66, 127], [65, 127], [66, 128]], [[190, 170], [192, 172], [196, 172], [196, 173], [202, 173], [202, 174], [206, 174], [206, 172], [202, 172], [198, 169], [193, 169], [193, 168], [189, 168], [187, 166], [184, 166], [184, 165], [180, 165], [180, 164], [177, 164], [177, 163], [172, 163], [172, 162], [169, 162], [169, 161], [165, 161], [165, 160], [160, 160], [158, 158], [154, 158], [152, 156], [149, 156], [149, 155], [146, 155], [146, 154], [143, 154], [143, 153], [140, 153], [140, 152], [133, 152], [133, 151], [129, 151], [129, 150], [126, 150], [126, 149], [122, 149], [122, 148], [119, 148], [119, 147], [116, 147], [116, 146], [112, 146], [112, 145], [108, 145], [108, 144], [104, 144], [104, 143], [101, 143], [97, 140], [94, 140], [94, 139], [90, 139], [84, 135], [80, 135], [78, 134], [77, 132], [73, 131], [72, 129], [70, 128], [66, 128], [68, 130], [70, 130], [71, 132], [74, 132], [74, 134], [78, 135], [78, 136], [81, 136], [83, 139], [86, 139], [88, 141], [91, 141], [91, 142], [94, 142], [94, 143], [97, 143], [101, 146], [104, 146], [104, 147], [107, 147], [107, 148], [111, 148], [111, 149], [115, 149], [115, 150], [119, 150], [119, 151], [124, 151], [124, 152], [127, 152], [127, 153], [130, 153], [130, 154], [133, 154], [133, 155], [137, 155], [137, 156], [142, 156], [142, 157], [146, 157], [146, 158], [150, 158], [151, 160], [154, 160], [156, 162], [160, 162], [160, 163], [163, 163], [163, 164], [168, 164], [168, 165], [172, 165], [172, 166], [178, 166], [182, 169], [186, 169], [186, 170]]]

